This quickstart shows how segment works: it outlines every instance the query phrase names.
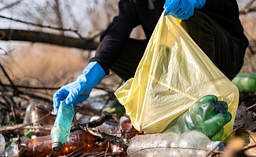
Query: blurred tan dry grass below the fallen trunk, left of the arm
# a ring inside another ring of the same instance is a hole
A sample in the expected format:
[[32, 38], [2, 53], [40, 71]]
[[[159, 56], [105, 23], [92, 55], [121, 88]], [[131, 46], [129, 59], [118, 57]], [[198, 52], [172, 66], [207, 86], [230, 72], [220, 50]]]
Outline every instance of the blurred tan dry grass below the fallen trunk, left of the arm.
[[[29, 43], [10, 45], [10, 49], [15, 50], [2, 57], [5, 61], [1, 60], [1, 63], [18, 84], [62, 86], [74, 80], [87, 64], [83, 56], [87, 52], [80, 49]], [[1, 78], [5, 78], [2, 71]]]

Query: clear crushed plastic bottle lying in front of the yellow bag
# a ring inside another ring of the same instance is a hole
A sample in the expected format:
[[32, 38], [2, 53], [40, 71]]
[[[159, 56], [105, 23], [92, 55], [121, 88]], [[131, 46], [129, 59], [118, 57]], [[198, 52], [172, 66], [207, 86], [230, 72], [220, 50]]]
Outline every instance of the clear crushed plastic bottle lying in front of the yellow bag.
[[190, 131], [178, 133], [153, 133], [133, 137], [127, 148], [130, 157], [162, 156], [162, 157], [199, 157], [206, 156], [217, 147], [224, 150], [220, 141], [210, 141], [203, 133]]

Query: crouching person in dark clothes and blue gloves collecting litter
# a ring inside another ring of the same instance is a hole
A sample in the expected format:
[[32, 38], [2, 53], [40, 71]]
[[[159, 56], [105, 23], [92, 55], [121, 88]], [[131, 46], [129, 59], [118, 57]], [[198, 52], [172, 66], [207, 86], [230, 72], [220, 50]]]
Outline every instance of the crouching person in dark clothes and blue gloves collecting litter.
[[[240, 71], [248, 41], [236, 0], [120, 0], [119, 15], [102, 33], [95, 57], [75, 82], [54, 94], [54, 112], [61, 100], [75, 106], [90, 97], [110, 69], [125, 81], [132, 78], [163, 11], [165, 16], [181, 19], [188, 35], [229, 79]], [[130, 38], [138, 25], [144, 40]]]

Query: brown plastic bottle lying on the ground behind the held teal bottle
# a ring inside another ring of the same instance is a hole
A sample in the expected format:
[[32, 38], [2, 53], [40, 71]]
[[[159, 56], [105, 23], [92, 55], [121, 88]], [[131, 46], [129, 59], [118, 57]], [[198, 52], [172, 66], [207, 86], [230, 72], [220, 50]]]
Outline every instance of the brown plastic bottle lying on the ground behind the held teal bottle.
[[42, 156], [60, 156], [75, 152], [76, 155], [93, 147], [94, 137], [91, 133], [84, 130], [71, 132], [68, 141], [63, 144], [60, 152], [52, 151], [52, 139], [50, 135], [28, 139], [20, 144], [20, 157], [42, 157]]

